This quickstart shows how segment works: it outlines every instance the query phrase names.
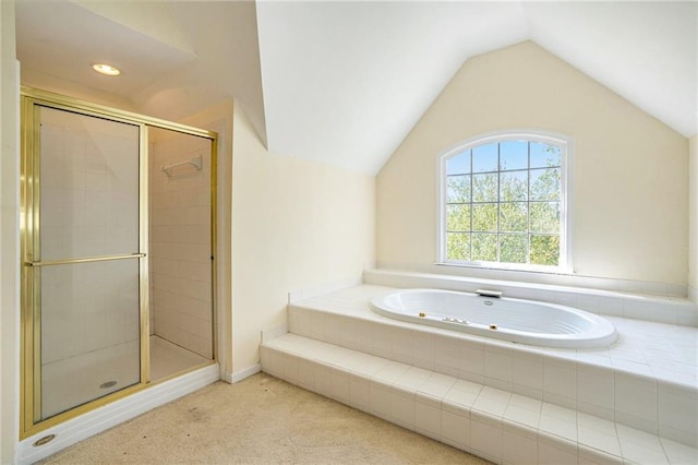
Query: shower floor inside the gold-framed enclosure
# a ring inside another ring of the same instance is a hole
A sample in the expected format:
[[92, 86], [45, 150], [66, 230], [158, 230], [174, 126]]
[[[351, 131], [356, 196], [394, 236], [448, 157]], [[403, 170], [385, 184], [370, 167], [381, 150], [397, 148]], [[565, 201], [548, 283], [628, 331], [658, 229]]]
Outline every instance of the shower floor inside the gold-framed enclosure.
[[[151, 336], [151, 381], [207, 361], [159, 336]], [[140, 367], [137, 341], [45, 365], [40, 379], [43, 417], [51, 417], [137, 383]]]

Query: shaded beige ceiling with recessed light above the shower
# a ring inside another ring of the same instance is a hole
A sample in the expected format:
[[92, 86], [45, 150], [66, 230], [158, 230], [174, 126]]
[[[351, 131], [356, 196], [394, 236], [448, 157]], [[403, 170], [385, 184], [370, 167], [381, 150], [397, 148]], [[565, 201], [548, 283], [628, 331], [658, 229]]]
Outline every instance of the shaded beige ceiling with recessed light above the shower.
[[[253, 2], [17, 0], [15, 10], [23, 73], [111, 94], [171, 120], [234, 97], [266, 141]], [[95, 62], [122, 74], [96, 74]]]

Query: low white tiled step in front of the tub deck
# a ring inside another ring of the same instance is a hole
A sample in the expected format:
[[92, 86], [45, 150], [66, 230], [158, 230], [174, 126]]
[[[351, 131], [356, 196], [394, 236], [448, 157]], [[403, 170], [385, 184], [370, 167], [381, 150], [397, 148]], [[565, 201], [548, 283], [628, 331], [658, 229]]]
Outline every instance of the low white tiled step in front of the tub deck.
[[285, 334], [262, 370], [497, 464], [696, 464], [698, 450], [508, 391]]

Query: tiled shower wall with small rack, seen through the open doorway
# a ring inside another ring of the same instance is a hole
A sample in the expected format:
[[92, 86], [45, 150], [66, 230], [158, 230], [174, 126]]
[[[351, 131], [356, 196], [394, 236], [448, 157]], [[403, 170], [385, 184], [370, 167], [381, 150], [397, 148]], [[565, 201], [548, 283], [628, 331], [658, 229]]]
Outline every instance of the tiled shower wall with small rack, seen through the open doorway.
[[[213, 357], [210, 150], [202, 138], [158, 132], [151, 144], [151, 294], [155, 334]], [[201, 171], [159, 167], [201, 156]]]

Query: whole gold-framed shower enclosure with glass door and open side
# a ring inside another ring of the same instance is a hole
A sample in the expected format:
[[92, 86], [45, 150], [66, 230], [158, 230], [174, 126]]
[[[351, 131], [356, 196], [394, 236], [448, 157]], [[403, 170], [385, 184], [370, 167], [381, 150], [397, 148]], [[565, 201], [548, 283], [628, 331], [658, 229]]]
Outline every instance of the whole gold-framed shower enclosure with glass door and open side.
[[22, 92], [23, 437], [213, 363], [216, 134]]

